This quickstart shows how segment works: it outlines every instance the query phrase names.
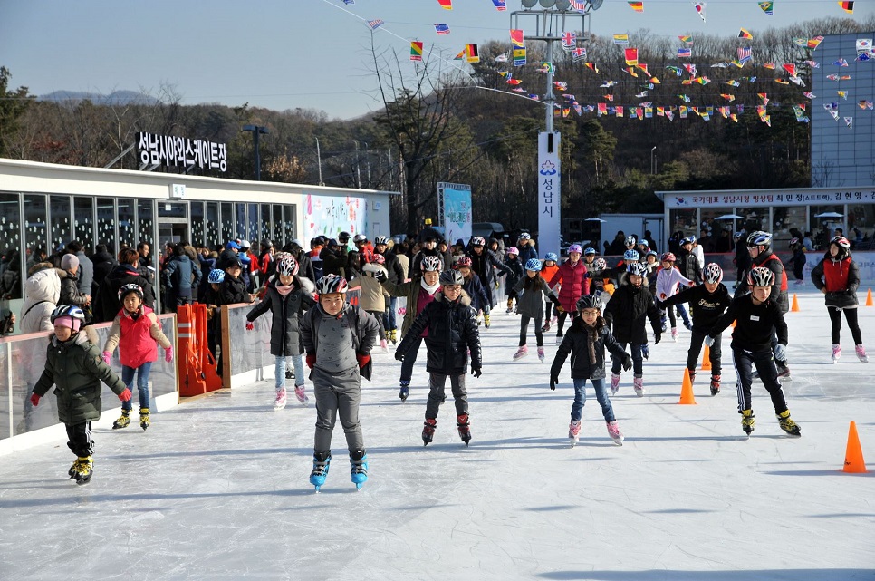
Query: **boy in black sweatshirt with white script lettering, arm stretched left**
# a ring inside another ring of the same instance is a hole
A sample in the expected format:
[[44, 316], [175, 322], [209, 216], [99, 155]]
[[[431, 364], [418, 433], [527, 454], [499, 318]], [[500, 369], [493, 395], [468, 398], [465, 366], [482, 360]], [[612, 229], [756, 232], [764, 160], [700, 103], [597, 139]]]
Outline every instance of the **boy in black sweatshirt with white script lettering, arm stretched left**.
[[[698, 354], [702, 351], [702, 342], [705, 340], [708, 331], [716, 323], [717, 318], [723, 315], [726, 312], [726, 308], [732, 303], [732, 298], [729, 296], [726, 286], [720, 284], [720, 281], [723, 280], [723, 269], [719, 265], [712, 262], [705, 266], [704, 278], [704, 285], [690, 286], [677, 295], [669, 296], [664, 301], [657, 301], [657, 306], [660, 309], [680, 303], [689, 303], [689, 310], [692, 311], [693, 315], [693, 329], [689, 337], [689, 351], [687, 352], [687, 370], [689, 371], [690, 382], [696, 380], [696, 366]], [[709, 360], [711, 362], [711, 395], [716, 395], [720, 392], [721, 339], [722, 335], [717, 335], [709, 351]]]

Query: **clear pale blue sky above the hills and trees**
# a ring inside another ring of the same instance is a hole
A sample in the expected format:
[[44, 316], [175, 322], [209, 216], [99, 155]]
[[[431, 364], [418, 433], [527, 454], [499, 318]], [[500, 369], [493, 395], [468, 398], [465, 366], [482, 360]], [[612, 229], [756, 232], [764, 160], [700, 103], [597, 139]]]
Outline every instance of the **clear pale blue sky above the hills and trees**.
[[[0, 64], [13, 86], [34, 94], [56, 90], [110, 93], [175, 86], [184, 103], [249, 102], [275, 110], [312, 108], [351, 118], [378, 108], [365, 21], [386, 22], [374, 33], [378, 50], [402, 58], [421, 40], [452, 58], [465, 44], [505, 40], [510, 11], [492, 0], [0, 0]], [[707, 2], [702, 22], [687, 0], [644, 0], [644, 12], [625, 0], [605, 0], [591, 32], [634, 34], [756, 34], [823, 16], [862, 19], [873, 0], [858, 0], [852, 16], [833, 0], [775, 0], [767, 16], [756, 0]], [[435, 34], [434, 24], [451, 33]], [[597, 58], [595, 58], [597, 60]], [[411, 63], [412, 64], [412, 63]]]

